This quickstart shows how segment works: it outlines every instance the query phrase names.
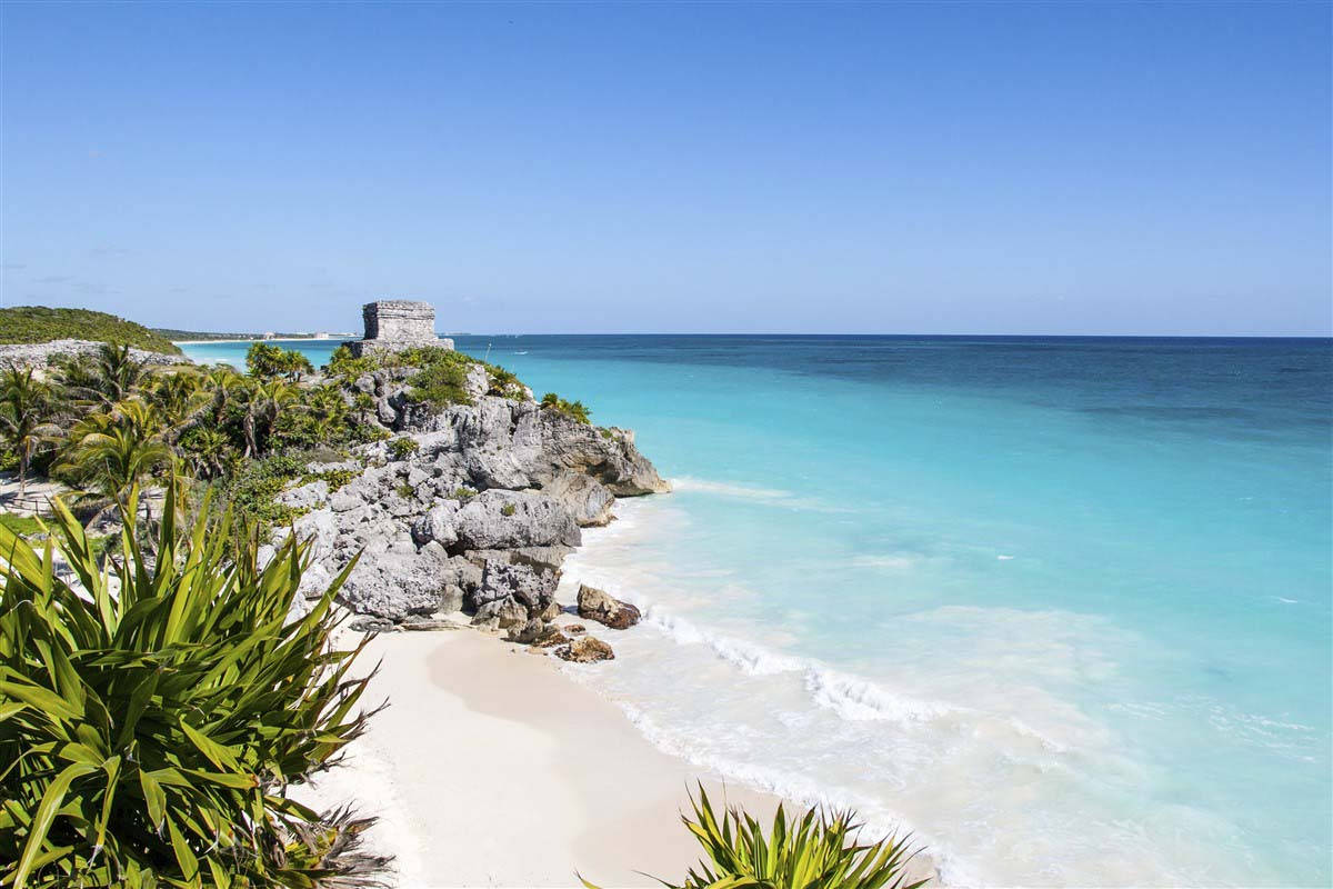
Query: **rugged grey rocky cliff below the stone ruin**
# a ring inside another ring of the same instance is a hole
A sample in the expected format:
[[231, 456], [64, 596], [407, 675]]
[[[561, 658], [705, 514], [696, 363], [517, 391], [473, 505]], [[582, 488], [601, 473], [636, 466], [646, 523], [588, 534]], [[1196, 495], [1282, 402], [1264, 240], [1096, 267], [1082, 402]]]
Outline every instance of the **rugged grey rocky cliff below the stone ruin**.
[[[392, 629], [464, 612], [521, 641], [551, 640], [555, 590], [581, 529], [612, 518], [616, 497], [669, 490], [635, 446], [633, 433], [599, 428], [543, 408], [528, 391], [484, 395], [429, 411], [409, 397], [404, 375], [365, 375], [353, 388], [376, 400], [395, 440], [363, 445], [353, 481], [293, 488], [281, 501], [309, 509], [295, 522], [312, 541], [303, 585], [317, 594], [357, 554], [340, 601], [363, 626]], [[401, 456], [397, 456], [401, 454]], [[291, 533], [284, 529], [279, 536]]]

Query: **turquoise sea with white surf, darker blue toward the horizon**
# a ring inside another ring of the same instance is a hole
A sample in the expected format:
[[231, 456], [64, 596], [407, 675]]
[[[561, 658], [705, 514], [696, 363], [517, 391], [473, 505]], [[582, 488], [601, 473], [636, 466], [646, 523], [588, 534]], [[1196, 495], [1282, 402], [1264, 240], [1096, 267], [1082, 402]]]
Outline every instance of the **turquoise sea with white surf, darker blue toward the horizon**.
[[674, 481], [565, 570], [648, 608], [579, 676], [660, 745], [957, 882], [1329, 885], [1328, 340], [459, 347]]

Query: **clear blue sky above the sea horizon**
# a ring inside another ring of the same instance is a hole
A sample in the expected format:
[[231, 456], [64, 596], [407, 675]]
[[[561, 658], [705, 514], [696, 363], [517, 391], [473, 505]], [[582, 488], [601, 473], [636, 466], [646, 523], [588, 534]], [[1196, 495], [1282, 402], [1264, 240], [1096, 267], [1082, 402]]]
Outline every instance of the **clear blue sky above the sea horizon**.
[[0, 7], [3, 301], [1329, 335], [1330, 5]]

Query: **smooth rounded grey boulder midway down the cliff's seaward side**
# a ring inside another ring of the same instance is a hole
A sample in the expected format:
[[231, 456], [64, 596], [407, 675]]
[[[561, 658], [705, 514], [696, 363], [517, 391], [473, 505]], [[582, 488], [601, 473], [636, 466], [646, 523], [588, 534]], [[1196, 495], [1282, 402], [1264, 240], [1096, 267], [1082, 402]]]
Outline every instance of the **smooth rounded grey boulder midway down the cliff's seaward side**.
[[533, 490], [487, 490], [453, 517], [457, 542], [467, 549], [577, 546], [579, 525], [563, 504]]

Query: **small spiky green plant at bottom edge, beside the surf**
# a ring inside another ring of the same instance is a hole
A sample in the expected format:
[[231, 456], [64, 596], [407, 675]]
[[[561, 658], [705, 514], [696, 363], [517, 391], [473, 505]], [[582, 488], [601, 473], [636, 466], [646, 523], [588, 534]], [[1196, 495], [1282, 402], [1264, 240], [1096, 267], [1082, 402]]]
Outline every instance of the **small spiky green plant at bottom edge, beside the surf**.
[[708, 864], [690, 868], [678, 885], [659, 880], [668, 889], [918, 889], [926, 882], [904, 882], [917, 853], [909, 837], [862, 844], [850, 812], [813, 806], [800, 821], [789, 821], [778, 805], [765, 832], [736, 806], [718, 818], [702, 785], [690, 808], [694, 817], [682, 814], [681, 821], [704, 846]]

